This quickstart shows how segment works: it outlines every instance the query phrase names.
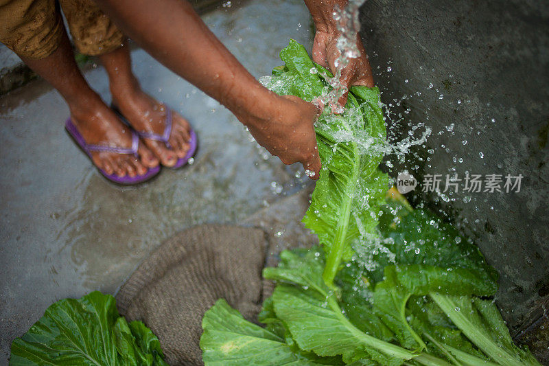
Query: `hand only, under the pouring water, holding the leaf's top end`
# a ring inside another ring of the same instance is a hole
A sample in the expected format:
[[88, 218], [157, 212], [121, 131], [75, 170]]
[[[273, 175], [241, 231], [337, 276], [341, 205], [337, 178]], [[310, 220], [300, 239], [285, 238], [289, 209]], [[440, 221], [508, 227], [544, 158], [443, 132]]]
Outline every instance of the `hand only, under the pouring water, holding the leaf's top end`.
[[[320, 29], [319, 29], [320, 28]], [[340, 56], [338, 47], [336, 47], [337, 40], [340, 33], [337, 30], [328, 30], [327, 27], [317, 27], [316, 34], [314, 35], [313, 43], [313, 60], [314, 62], [329, 69], [332, 73], [336, 73], [335, 62]], [[349, 64], [341, 72], [340, 81], [347, 89], [352, 85], [365, 85], [366, 87], [373, 87], [373, 76], [370, 62], [366, 56], [366, 50], [362, 45], [362, 40], [357, 34], [356, 43], [360, 56], [358, 58], [349, 59]], [[338, 100], [341, 106], [347, 103], [346, 91], [342, 97]]]

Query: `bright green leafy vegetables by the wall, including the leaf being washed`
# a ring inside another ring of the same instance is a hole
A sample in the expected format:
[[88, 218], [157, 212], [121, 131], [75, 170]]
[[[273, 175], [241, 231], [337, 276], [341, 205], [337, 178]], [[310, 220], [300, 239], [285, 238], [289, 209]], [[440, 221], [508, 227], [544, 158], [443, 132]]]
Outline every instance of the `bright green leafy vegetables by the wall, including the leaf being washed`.
[[[329, 71], [295, 41], [264, 83], [312, 101]], [[385, 203], [379, 91], [351, 87], [316, 125], [323, 161], [303, 218], [321, 247], [283, 251], [258, 321], [220, 299], [202, 320], [206, 365], [539, 365], [493, 303], [497, 273], [428, 211]]]

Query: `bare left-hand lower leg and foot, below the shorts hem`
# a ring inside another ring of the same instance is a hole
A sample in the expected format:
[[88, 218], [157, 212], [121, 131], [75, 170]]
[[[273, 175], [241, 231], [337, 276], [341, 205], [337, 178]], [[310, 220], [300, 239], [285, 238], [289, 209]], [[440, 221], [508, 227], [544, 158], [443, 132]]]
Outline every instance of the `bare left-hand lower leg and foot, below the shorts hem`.
[[[69, 104], [73, 122], [87, 143], [131, 146], [130, 130], [82, 77], [66, 34], [63, 34], [60, 45], [49, 56], [33, 59], [21, 55], [21, 59], [59, 91]], [[92, 152], [92, 157], [98, 168], [119, 176], [145, 174], [147, 168], [159, 163], [143, 144], [139, 144], [139, 159], [110, 152]]]

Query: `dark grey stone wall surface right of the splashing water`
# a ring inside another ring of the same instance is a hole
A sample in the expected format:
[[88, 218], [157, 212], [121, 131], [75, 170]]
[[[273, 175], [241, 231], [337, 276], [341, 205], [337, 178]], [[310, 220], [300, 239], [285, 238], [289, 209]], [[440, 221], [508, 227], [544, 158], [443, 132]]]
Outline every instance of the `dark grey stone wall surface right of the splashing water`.
[[382, 99], [393, 105], [392, 138], [406, 137], [408, 122], [432, 128], [405, 163], [390, 157], [393, 176], [404, 168], [419, 181], [524, 176], [519, 193], [461, 192], [462, 181], [457, 194], [409, 198], [427, 199], [476, 240], [500, 271], [504, 318], [512, 327], [527, 321], [549, 293], [547, 1], [373, 0], [362, 27]]

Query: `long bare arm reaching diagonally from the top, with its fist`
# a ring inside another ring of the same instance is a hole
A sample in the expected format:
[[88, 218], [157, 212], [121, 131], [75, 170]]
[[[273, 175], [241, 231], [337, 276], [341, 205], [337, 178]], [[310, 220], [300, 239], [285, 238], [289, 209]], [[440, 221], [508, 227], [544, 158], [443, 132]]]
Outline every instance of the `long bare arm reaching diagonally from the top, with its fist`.
[[316, 107], [268, 91], [244, 69], [184, 0], [96, 0], [156, 60], [229, 108], [283, 163], [303, 163], [318, 179]]

